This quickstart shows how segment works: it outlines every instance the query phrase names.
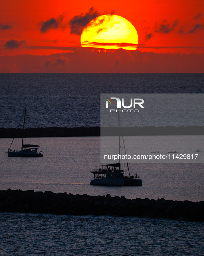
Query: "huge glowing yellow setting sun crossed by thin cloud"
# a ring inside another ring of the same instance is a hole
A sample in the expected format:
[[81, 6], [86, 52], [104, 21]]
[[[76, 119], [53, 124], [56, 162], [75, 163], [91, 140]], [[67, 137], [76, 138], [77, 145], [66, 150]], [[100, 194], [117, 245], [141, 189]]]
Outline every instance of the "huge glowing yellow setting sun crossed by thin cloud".
[[91, 20], [81, 34], [82, 47], [136, 50], [137, 45], [135, 27], [118, 15], [101, 15]]

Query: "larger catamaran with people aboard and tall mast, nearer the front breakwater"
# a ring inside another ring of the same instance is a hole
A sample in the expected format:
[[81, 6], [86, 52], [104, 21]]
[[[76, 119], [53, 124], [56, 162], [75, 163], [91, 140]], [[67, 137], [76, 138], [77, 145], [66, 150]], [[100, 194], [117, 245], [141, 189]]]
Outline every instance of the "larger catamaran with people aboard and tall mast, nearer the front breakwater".
[[[118, 112], [118, 127], [120, 127], [120, 117]], [[124, 138], [123, 145], [125, 149]], [[118, 136], [119, 144], [119, 155], [120, 155], [120, 136]], [[126, 154], [126, 150], [125, 150]], [[139, 176], [130, 175], [129, 166], [127, 162], [127, 168], [129, 176], [124, 175], [124, 170], [121, 169], [120, 160], [116, 164], [100, 165], [99, 169], [92, 170], [91, 173], [94, 174], [94, 178], [91, 179], [90, 185], [98, 186], [142, 186], [142, 179]]]

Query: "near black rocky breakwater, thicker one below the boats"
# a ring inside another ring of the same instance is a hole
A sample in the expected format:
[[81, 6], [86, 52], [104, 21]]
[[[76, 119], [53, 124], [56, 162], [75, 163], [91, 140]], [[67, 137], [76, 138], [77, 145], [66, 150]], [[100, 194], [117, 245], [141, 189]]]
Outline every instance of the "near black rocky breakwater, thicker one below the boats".
[[66, 215], [115, 215], [204, 221], [204, 202], [127, 199], [8, 189], [0, 191], [0, 211]]

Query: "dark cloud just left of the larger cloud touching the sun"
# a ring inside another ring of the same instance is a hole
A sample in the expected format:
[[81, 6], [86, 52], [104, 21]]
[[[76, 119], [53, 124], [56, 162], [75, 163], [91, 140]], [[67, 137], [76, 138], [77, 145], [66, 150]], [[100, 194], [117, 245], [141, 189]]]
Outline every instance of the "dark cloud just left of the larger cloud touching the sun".
[[41, 26], [40, 32], [41, 33], [46, 33], [50, 29], [65, 28], [66, 24], [63, 23], [63, 19], [64, 19], [64, 16], [59, 15], [59, 17], [56, 18], [56, 19], [51, 18], [47, 21], [41, 21], [41, 23], [39, 24]]

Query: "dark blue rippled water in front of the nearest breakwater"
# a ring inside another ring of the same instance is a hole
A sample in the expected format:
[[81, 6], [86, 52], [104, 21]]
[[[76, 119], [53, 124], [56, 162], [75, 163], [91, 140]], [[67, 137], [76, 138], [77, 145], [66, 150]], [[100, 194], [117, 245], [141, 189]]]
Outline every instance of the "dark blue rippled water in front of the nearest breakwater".
[[0, 255], [201, 256], [204, 223], [0, 213]]

